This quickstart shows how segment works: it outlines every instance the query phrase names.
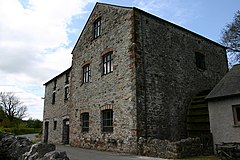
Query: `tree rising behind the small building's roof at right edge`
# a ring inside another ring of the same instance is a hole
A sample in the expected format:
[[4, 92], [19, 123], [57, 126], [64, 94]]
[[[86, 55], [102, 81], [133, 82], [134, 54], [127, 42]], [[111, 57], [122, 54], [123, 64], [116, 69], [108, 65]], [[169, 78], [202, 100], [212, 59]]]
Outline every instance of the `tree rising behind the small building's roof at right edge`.
[[221, 43], [227, 47], [230, 65], [240, 63], [240, 10], [222, 31]]

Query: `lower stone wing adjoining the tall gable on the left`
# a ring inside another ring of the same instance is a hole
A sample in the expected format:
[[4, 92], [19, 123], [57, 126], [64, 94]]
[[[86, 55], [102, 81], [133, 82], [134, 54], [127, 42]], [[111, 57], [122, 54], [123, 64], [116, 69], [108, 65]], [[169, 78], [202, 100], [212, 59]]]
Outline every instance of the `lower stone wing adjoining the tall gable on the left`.
[[44, 84], [44, 142], [69, 144], [70, 76], [68, 68]]

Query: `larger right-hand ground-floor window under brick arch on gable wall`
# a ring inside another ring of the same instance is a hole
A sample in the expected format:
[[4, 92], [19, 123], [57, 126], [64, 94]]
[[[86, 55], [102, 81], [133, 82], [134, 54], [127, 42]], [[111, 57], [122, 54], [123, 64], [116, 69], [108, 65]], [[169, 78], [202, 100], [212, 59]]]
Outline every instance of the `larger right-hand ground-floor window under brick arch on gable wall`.
[[113, 110], [106, 109], [102, 111], [102, 131], [113, 132]]

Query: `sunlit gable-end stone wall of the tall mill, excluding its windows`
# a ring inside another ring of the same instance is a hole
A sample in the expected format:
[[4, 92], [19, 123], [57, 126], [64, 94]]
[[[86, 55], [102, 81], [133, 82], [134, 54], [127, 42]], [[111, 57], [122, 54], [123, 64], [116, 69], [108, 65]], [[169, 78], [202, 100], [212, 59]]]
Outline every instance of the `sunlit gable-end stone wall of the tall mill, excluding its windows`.
[[[136, 151], [135, 71], [131, 58], [132, 10], [96, 5], [73, 50], [70, 144], [83, 148]], [[101, 36], [93, 23], [101, 17]], [[112, 51], [113, 72], [102, 75], [102, 54]], [[91, 82], [83, 83], [82, 67], [90, 64]], [[101, 131], [101, 110], [113, 109], [113, 132]], [[89, 112], [89, 132], [80, 114]]]

